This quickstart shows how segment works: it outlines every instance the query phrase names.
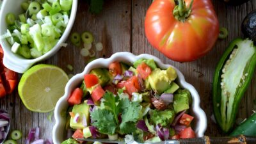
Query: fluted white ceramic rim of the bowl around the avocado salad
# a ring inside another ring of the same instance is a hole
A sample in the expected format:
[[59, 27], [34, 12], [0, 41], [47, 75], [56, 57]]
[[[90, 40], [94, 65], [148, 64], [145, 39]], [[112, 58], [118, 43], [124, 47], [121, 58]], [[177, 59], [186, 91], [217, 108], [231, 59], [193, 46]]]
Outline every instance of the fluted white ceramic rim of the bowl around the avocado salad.
[[[72, 79], [68, 81], [65, 87], [65, 94], [63, 95], [63, 97], [60, 98], [60, 100], [58, 100], [56, 108], [54, 110], [54, 118], [56, 120], [56, 124], [54, 125], [52, 131], [53, 142], [57, 144], [61, 143], [64, 140], [63, 136], [65, 135], [66, 120], [65, 117], [61, 116], [61, 111], [67, 110], [68, 95], [70, 95], [74, 88], [81, 84], [84, 79], [84, 74], [88, 74], [93, 68], [108, 68], [108, 65], [113, 61], [124, 61], [125, 63], [129, 63], [132, 65], [134, 61], [139, 60], [140, 58], [154, 59], [154, 61], [160, 68], [172, 67], [171, 65], [164, 65], [161, 60], [159, 60], [159, 58], [156, 58], [155, 56], [152, 56], [150, 54], [141, 54], [139, 56], [134, 56], [130, 52], [117, 52], [108, 59], [100, 58], [92, 61], [91, 63], [88, 63], [82, 73], [72, 77]], [[192, 95], [193, 103], [190, 108], [190, 113], [195, 116], [195, 124], [193, 125], [193, 129], [196, 132], [196, 136], [204, 136], [204, 132], [207, 127], [207, 119], [204, 111], [200, 108], [200, 97], [198, 95], [198, 92], [196, 92], [195, 88], [191, 84], [185, 81], [183, 74], [177, 68], [175, 68], [175, 70], [177, 72], [177, 82], [179, 83], [179, 85], [182, 86], [182, 88], [186, 88], [187, 90], [189, 90]]]

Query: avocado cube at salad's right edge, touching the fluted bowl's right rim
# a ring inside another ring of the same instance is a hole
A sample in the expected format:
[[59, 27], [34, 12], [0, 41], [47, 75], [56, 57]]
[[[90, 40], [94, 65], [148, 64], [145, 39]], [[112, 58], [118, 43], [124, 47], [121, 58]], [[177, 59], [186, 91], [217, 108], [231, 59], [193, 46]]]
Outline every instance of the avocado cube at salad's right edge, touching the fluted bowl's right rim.
[[188, 90], [178, 90], [173, 97], [173, 108], [175, 113], [189, 109], [189, 100], [191, 99]]

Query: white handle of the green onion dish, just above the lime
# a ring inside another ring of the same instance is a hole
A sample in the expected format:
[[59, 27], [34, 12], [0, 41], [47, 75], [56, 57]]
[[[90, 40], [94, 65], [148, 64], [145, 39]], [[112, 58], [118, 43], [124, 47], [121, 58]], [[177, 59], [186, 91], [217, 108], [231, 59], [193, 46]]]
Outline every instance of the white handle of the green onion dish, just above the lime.
[[26, 72], [26, 70], [28, 70], [28, 68], [31, 67], [31, 65], [33, 65], [34, 63], [27, 62], [24, 60], [13, 61], [12, 59], [8, 59], [8, 58], [6, 58], [6, 56], [4, 56], [3, 64], [6, 68], [9, 68], [10, 70], [13, 70], [14, 72], [18, 72], [18, 73], [22, 74], [22, 73]]

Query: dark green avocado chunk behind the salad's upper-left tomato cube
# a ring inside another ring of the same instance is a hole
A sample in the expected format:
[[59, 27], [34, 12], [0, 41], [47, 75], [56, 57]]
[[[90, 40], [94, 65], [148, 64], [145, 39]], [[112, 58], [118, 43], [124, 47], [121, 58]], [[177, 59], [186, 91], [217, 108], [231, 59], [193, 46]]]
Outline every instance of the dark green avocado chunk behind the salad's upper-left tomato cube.
[[105, 68], [94, 68], [90, 74], [94, 74], [95, 76], [97, 76], [99, 78], [99, 83], [102, 87], [106, 86], [106, 84], [108, 84], [110, 77], [108, 74], [106, 74], [106, 71], [104, 71], [103, 69]]

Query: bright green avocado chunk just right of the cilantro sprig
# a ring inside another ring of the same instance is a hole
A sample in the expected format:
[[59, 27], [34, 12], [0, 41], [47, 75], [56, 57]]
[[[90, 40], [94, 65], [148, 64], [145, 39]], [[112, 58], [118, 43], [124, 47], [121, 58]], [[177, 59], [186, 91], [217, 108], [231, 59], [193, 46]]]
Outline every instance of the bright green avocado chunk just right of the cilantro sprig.
[[171, 109], [165, 109], [164, 111], [154, 109], [150, 114], [150, 122], [155, 125], [160, 124], [163, 127], [172, 124], [174, 118], [175, 112]]

